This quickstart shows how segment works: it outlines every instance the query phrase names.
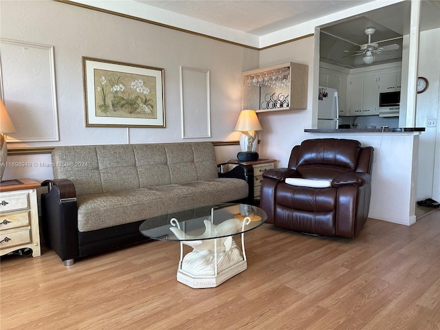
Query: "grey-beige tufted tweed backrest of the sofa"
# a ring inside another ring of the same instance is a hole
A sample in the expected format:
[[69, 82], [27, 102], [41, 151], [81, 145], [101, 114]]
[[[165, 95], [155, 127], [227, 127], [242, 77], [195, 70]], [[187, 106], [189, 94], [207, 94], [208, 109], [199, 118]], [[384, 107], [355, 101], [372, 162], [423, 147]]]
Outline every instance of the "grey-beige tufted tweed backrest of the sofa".
[[77, 196], [218, 177], [210, 142], [63, 146], [52, 164], [54, 179], [73, 181]]

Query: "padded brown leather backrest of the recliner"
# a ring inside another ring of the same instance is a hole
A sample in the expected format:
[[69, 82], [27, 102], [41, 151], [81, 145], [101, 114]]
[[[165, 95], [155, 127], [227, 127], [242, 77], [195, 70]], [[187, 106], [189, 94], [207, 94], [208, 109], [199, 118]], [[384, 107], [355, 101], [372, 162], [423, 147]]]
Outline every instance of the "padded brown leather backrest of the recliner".
[[295, 148], [289, 167], [306, 179], [332, 180], [342, 173], [354, 172], [361, 152], [360, 142], [346, 139], [305, 140]]

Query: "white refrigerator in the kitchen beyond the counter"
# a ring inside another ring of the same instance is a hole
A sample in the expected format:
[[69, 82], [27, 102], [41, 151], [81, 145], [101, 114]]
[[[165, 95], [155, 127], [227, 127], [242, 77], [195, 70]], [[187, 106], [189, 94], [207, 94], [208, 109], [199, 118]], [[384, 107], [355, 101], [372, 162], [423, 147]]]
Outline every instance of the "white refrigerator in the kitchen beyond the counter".
[[319, 87], [318, 129], [338, 129], [338, 91], [334, 88]]

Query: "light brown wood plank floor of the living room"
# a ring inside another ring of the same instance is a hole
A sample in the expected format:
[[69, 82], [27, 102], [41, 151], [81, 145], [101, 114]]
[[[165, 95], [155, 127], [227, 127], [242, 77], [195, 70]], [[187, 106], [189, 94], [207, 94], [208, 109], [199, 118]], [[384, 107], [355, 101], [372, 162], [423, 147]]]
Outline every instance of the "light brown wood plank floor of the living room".
[[440, 212], [369, 219], [358, 238], [272, 225], [245, 235], [248, 270], [219, 287], [175, 279], [152, 241], [65, 267], [52, 250], [1, 258], [1, 329], [440, 329]]

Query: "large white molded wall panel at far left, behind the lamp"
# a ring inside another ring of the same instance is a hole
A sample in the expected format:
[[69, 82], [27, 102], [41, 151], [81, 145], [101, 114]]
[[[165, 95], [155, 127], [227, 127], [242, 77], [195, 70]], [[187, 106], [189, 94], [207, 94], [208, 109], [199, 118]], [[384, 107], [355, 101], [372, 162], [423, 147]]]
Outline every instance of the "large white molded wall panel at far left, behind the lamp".
[[0, 38], [0, 48], [0, 98], [16, 130], [6, 140], [59, 141], [54, 46]]

